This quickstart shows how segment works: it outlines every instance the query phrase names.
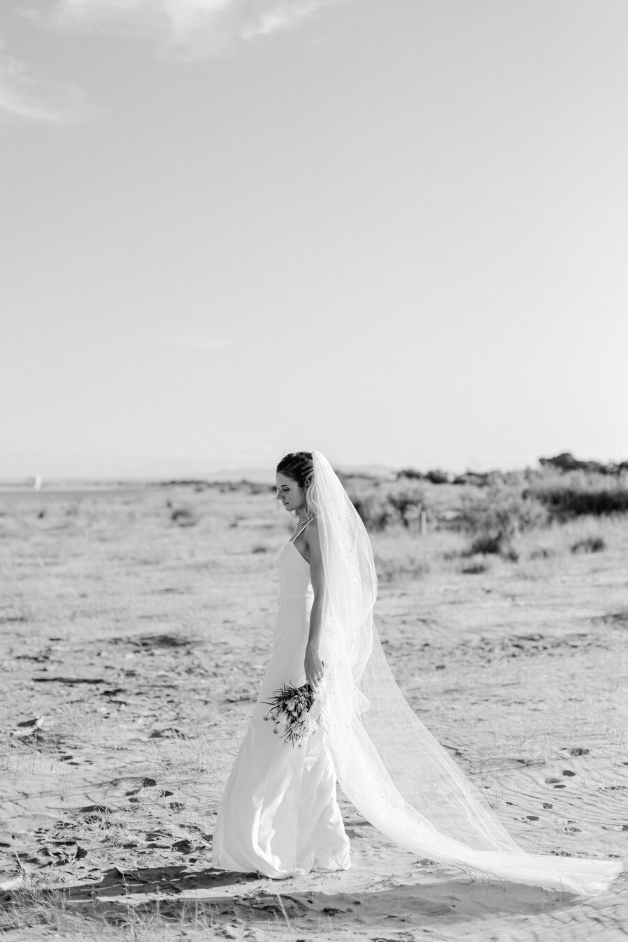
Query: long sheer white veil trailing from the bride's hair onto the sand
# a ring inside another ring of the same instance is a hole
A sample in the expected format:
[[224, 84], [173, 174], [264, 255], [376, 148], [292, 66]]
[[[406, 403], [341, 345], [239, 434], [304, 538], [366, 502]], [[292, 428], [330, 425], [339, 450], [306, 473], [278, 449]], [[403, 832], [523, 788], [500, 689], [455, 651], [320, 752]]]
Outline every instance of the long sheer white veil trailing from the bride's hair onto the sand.
[[373, 623], [373, 551], [330, 463], [313, 452], [325, 571], [321, 656], [330, 749], [340, 787], [400, 847], [516, 883], [594, 895], [620, 861], [525, 853], [406, 702]]

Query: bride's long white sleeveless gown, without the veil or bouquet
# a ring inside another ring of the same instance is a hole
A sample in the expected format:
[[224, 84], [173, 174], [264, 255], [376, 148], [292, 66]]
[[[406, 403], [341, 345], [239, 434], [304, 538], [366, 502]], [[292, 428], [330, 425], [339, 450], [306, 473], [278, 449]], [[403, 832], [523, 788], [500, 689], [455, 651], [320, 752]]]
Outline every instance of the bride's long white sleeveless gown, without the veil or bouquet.
[[299, 748], [275, 735], [273, 723], [264, 719], [269, 709], [264, 701], [273, 690], [305, 683], [314, 597], [310, 565], [292, 541], [279, 555], [279, 575], [272, 657], [218, 811], [213, 864], [282, 879], [348, 869], [349, 842], [324, 723]]

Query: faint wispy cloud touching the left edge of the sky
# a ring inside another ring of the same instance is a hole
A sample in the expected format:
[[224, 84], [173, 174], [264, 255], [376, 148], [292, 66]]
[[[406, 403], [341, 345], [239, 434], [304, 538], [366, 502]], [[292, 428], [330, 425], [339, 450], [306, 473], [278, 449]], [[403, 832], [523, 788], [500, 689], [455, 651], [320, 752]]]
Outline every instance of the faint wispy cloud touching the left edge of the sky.
[[79, 89], [35, 78], [23, 61], [8, 54], [0, 40], [0, 122], [9, 118], [70, 124], [91, 114], [93, 110]]

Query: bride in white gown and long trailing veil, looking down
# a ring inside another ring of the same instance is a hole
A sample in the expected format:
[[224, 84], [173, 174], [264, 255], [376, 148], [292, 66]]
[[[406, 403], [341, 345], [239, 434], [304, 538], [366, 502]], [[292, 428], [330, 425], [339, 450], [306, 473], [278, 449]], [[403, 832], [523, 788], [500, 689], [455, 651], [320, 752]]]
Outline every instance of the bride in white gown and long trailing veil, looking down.
[[[525, 853], [395, 683], [373, 624], [377, 577], [358, 513], [320, 451], [286, 455], [277, 496], [298, 525], [279, 556], [273, 651], [214, 833], [221, 869], [283, 878], [349, 867], [336, 782], [362, 816], [429, 860], [593, 895], [619, 861]], [[314, 691], [296, 748], [266, 723], [283, 684]]]

